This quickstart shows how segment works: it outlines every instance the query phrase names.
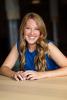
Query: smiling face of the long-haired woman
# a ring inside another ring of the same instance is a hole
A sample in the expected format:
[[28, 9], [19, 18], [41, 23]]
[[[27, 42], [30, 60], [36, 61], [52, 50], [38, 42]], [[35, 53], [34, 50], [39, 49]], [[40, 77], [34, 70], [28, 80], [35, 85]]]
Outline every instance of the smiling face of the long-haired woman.
[[27, 43], [35, 44], [40, 37], [40, 30], [33, 19], [29, 19], [24, 28], [24, 38]]

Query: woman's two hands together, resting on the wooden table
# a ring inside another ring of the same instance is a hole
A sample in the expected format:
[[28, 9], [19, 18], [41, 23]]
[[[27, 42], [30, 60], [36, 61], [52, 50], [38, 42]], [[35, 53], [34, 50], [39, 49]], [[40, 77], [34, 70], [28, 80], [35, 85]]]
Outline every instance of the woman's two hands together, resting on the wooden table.
[[37, 80], [40, 78], [44, 77], [44, 72], [36, 72], [36, 71], [31, 71], [31, 70], [27, 70], [25, 72], [23, 71], [18, 71], [15, 72], [13, 78], [17, 81], [19, 80]]

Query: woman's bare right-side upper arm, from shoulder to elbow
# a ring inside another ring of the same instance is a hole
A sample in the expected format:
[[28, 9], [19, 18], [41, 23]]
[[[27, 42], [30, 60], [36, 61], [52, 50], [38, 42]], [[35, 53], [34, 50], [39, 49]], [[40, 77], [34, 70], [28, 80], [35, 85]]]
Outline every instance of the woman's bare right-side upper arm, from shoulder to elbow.
[[53, 44], [48, 43], [49, 56], [56, 62], [60, 67], [67, 67], [67, 58], [63, 53]]

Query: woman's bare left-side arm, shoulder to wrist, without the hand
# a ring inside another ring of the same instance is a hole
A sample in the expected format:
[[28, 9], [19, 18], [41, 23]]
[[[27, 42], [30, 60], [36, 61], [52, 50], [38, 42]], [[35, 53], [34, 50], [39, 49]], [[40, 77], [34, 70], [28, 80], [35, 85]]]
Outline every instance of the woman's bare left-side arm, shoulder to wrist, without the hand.
[[15, 72], [12, 71], [12, 68], [14, 67], [17, 59], [18, 59], [18, 50], [16, 45], [14, 45], [9, 55], [5, 59], [4, 63], [2, 64], [0, 73], [8, 77], [13, 77]]

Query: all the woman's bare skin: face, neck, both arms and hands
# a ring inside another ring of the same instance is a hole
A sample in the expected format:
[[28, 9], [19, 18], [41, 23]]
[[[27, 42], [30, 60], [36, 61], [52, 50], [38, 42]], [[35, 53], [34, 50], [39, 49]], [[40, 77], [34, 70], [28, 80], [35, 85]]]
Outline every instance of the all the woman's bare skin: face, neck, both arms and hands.
[[[36, 49], [36, 42], [41, 37], [40, 30], [37, 23], [33, 19], [29, 19], [24, 28], [24, 39], [28, 43], [28, 49], [30, 52], [33, 52]], [[9, 55], [5, 59], [4, 63], [0, 68], [0, 73], [2, 75], [14, 78], [15, 80], [36, 80], [40, 78], [47, 77], [58, 77], [67, 75], [67, 58], [62, 54], [62, 52], [53, 44], [48, 43], [49, 56], [60, 66], [59, 69], [54, 71], [44, 71], [36, 72], [27, 70], [25, 72], [12, 71], [17, 59], [18, 59], [18, 50], [16, 45], [13, 46]]]

